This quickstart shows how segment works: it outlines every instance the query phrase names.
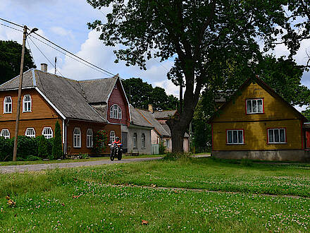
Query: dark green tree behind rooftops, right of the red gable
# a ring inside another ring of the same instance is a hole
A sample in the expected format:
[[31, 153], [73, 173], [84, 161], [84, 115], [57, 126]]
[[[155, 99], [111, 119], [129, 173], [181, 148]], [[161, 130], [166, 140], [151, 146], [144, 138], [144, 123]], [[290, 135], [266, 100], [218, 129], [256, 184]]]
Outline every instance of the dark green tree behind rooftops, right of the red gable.
[[133, 107], [148, 109], [149, 104], [153, 105], [154, 110], [170, 110], [177, 107], [176, 97], [167, 95], [163, 88], [153, 88], [141, 78], [128, 78], [122, 80], [122, 83]]

